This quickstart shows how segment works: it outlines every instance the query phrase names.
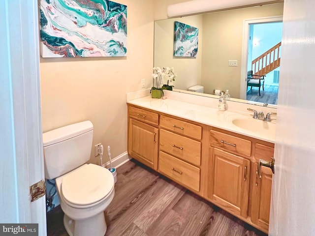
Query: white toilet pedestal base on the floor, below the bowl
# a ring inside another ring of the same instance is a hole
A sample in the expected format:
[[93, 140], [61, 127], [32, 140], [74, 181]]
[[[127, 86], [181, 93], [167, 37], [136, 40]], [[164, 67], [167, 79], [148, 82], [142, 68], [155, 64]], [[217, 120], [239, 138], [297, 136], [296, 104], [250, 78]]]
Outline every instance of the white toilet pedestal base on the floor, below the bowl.
[[63, 225], [69, 236], [104, 236], [107, 230], [104, 212], [83, 220], [72, 220], [64, 214]]

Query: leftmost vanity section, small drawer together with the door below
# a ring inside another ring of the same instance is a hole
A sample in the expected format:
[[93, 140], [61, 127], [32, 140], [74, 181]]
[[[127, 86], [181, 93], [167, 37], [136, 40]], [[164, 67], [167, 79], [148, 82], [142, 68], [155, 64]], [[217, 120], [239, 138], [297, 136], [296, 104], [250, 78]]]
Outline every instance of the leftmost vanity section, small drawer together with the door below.
[[158, 114], [129, 106], [128, 117], [129, 155], [158, 170]]

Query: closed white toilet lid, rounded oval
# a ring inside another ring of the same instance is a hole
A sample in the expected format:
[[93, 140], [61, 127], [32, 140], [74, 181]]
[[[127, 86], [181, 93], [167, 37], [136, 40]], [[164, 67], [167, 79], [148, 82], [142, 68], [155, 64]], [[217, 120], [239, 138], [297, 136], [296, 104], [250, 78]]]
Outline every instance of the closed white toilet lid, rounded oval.
[[84, 165], [63, 177], [63, 197], [75, 205], [90, 205], [105, 198], [114, 186], [114, 177], [106, 168]]

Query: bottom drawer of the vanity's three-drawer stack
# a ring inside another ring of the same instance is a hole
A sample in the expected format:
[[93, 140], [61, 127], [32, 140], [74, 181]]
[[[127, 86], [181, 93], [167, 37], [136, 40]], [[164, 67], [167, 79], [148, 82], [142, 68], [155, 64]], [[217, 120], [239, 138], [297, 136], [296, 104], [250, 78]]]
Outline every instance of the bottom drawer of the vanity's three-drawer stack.
[[158, 170], [178, 183], [199, 192], [200, 169], [198, 167], [160, 151]]

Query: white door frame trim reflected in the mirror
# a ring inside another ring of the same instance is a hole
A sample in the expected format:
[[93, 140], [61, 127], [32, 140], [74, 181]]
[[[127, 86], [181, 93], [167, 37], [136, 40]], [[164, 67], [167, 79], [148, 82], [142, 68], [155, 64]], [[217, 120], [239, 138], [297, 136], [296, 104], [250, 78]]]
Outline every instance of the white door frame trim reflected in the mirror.
[[246, 100], [247, 93], [247, 60], [248, 60], [248, 42], [250, 24], [282, 22], [283, 16], [267, 16], [245, 19], [243, 21], [243, 43], [242, 43], [242, 62], [241, 62], [241, 82], [240, 99]]

